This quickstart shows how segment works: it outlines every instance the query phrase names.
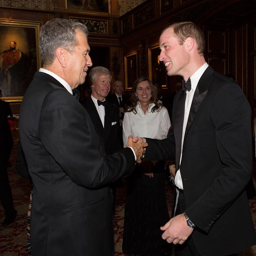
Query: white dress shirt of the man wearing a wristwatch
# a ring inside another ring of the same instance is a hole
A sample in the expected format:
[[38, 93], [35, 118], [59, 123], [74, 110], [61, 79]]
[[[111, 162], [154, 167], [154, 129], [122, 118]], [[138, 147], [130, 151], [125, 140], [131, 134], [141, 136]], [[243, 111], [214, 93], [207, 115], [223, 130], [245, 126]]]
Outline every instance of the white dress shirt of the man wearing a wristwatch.
[[[185, 135], [185, 130], [188, 122], [188, 116], [190, 112], [190, 107], [191, 103], [194, 97], [194, 93], [198, 84], [198, 81], [200, 80], [202, 74], [204, 71], [207, 69], [209, 65], [205, 62], [191, 77], [191, 90], [186, 92], [186, 100], [185, 100], [185, 111], [184, 111], [184, 121], [183, 121], [183, 129], [182, 129], [182, 139], [181, 139], [181, 153], [180, 153], [180, 163], [181, 163], [181, 158], [182, 158], [182, 148], [183, 148], [183, 141], [184, 141], [184, 135]], [[177, 171], [175, 175], [175, 185], [183, 189], [183, 184], [182, 184], [182, 178], [180, 174], [180, 169]]]

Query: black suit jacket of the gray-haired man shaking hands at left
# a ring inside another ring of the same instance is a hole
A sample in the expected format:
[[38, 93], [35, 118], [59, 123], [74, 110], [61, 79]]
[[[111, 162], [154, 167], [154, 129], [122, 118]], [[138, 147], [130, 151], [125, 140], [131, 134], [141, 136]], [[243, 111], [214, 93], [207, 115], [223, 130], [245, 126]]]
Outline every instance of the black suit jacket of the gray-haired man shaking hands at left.
[[32, 255], [113, 255], [108, 184], [134, 169], [132, 150], [105, 156], [84, 107], [42, 72], [22, 100], [19, 132], [33, 182]]

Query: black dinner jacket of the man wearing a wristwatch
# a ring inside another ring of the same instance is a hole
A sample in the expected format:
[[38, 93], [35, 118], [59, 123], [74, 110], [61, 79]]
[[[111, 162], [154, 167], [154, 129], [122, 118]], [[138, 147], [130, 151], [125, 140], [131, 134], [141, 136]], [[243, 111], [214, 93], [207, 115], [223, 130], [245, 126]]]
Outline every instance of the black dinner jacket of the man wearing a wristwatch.
[[[174, 99], [167, 139], [147, 139], [145, 160], [172, 159], [176, 150], [179, 165], [183, 96], [179, 91]], [[202, 256], [234, 254], [256, 242], [245, 193], [252, 171], [250, 114], [241, 88], [208, 67], [194, 94], [180, 165], [186, 213], [197, 226], [192, 239]]]

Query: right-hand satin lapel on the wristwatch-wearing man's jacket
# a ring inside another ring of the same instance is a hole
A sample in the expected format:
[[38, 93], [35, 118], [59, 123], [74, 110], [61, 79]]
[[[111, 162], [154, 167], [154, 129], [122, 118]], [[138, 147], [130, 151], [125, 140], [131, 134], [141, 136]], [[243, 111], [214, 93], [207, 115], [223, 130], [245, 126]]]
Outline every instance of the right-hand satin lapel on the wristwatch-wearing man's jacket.
[[186, 130], [185, 130], [184, 141], [185, 141], [186, 135], [189, 131], [189, 128], [192, 125], [192, 123], [196, 117], [196, 113], [197, 113], [201, 103], [203, 102], [205, 96], [207, 95], [208, 86], [210, 84], [210, 78], [211, 78], [211, 75], [213, 72], [214, 72], [214, 70], [212, 69], [212, 67], [209, 66], [204, 71], [203, 75], [201, 76], [201, 78], [198, 81], [196, 91], [195, 91], [195, 94], [194, 94], [194, 97], [192, 100], [192, 104], [190, 107], [188, 122], [187, 122]]

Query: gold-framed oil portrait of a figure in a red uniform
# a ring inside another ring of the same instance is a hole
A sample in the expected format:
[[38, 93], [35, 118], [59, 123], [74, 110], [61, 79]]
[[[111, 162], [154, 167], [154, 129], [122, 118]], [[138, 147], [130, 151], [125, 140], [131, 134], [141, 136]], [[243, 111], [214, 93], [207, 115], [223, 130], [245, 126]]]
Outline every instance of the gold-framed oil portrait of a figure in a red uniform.
[[0, 19], [0, 89], [4, 100], [21, 101], [40, 68], [41, 22]]

